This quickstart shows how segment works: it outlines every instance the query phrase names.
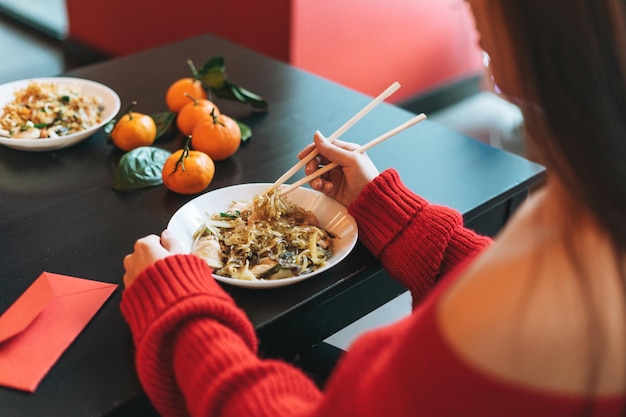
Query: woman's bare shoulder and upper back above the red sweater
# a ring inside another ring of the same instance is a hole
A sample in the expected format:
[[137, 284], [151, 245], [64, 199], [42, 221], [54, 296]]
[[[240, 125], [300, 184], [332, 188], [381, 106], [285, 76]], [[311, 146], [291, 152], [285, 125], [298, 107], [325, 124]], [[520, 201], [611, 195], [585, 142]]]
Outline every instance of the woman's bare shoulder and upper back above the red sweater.
[[[592, 268], [581, 281], [558, 231], [541, 227], [535, 210], [530, 205], [516, 216], [444, 294], [438, 308], [443, 334], [453, 350], [486, 373], [567, 393], [588, 389], [590, 352], [601, 352], [598, 388], [622, 392], [625, 335], [621, 320], [612, 318], [623, 317], [623, 291], [611, 280], [585, 283], [600, 272]], [[590, 308], [599, 313], [596, 327], [607, 330], [604, 337], [589, 326]], [[598, 340], [605, 343], [595, 345]]]

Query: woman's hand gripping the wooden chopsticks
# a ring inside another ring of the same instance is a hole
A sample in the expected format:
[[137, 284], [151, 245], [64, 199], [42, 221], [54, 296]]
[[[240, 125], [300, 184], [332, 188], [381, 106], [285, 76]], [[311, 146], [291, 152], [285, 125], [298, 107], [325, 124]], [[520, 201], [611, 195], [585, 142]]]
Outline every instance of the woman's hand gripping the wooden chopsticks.
[[335, 162], [339, 166], [309, 182], [311, 188], [321, 191], [329, 197], [348, 207], [359, 196], [363, 188], [369, 184], [379, 172], [374, 163], [365, 153], [355, 152], [359, 145], [336, 140], [331, 143], [320, 132], [316, 132], [313, 143], [298, 154], [304, 159], [317, 149], [319, 154], [304, 167], [309, 175], [320, 166]]

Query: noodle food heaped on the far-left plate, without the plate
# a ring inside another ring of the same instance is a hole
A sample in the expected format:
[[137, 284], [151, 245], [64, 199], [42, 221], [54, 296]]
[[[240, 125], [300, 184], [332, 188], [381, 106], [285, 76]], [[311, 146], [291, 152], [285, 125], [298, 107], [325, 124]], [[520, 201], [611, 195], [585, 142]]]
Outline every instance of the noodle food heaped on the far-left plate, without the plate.
[[77, 133], [102, 121], [99, 96], [55, 82], [30, 82], [15, 91], [0, 115], [0, 129], [11, 138], [55, 138]]

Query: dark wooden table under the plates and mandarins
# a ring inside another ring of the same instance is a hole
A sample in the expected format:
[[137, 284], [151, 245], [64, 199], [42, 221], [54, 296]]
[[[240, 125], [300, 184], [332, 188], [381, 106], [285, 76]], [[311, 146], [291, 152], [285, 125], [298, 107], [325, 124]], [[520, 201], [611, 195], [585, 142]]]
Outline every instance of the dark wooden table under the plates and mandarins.
[[[167, 86], [188, 76], [187, 58], [199, 66], [215, 55], [226, 58], [234, 82], [269, 101], [270, 111], [258, 114], [218, 101], [224, 113], [249, 124], [254, 136], [234, 157], [217, 163], [210, 189], [273, 182], [296, 162], [295, 155], [316, 129], [330, 134], [371, 100], [211, 35], [67, 75], [112, 87], [123, 108], [137, 100], [137, 111], [154, 113], [166, 110]], [[365, 143], [411, 116], [383, 104], [344, 139]], [[174, 150], [182, 141], [171, 132], [156, 145]], [[417, 193], [458, 209], [469, 224], [486, 233], [506, 221], [544, 172], [539, 165], [428, 121], [369, 154], [381, 170], [395, 167]], [[0, 312], [42, 271], [121, 283], [122, 259], [134, 241], [160, 233], [172, 214], [193, 198], [162, 186], [113, 191], [120, 156], [103, 132], [53, 152], [0, 148]], [[339, 266], [294, 286], [263, 291], [226, 288], [256, 326], [262, 350], [272, 354], [319, 342], [404, 291], [361, 245]], [[140, 396], [120, 298], [121, 288], [34, 394], [0, 387], [0, 415], [101, 416]]]

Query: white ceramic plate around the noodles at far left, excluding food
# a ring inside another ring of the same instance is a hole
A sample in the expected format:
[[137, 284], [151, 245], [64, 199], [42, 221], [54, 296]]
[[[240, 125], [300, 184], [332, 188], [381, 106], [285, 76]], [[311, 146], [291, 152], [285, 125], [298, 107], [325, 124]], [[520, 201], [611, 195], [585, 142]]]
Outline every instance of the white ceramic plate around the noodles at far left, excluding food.
[[30, 78], [26, 80], [13, 81], [7, 84], [0, 85], [0, 113], [4, 106], [15, 99], [14, 93], [16, 90], [22, 89], [28, 85], [29, 82], [35, 81], [38, 83], [58, 83], [66, 84], [80, 90], [85, 94], [102, 97], [104, 104], [104, 114], [102, 122], [90, 129], [83, 130], [81, 132], [72, 133], [71, 135], [60, 136], [58, 138], [46, 138], [46, 139], [13, 139], [0, 136], [0, 144], [9, 148], [18, 149], [21, 151], [53, 151], [56, 149], [66, 148], [77, 144], [80, 141], [87, 139], [93, 135], [98, 129], [107, 124], [120, 110], [120, 98], [109, 87], [97, 83], [95, 81], [84, 80], [81, 78], [70, 77], [50, 77], [50, 78]]

